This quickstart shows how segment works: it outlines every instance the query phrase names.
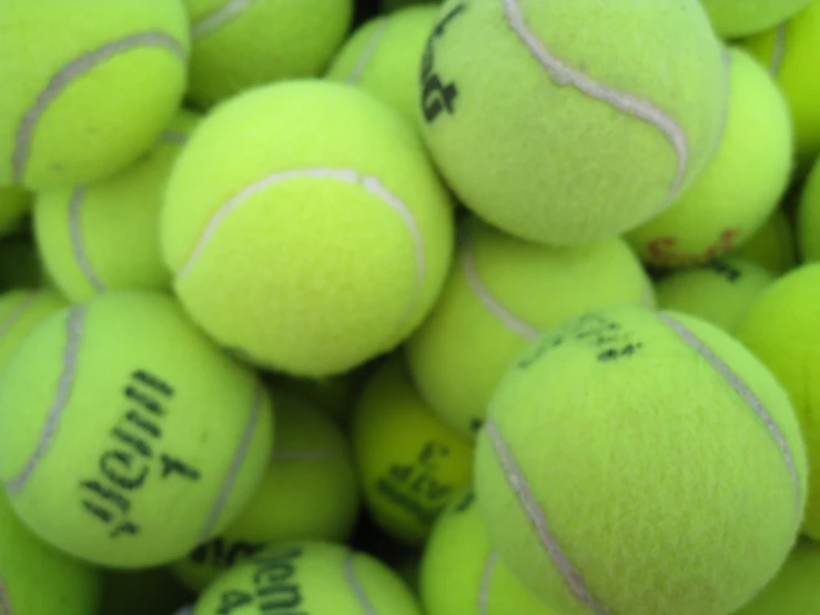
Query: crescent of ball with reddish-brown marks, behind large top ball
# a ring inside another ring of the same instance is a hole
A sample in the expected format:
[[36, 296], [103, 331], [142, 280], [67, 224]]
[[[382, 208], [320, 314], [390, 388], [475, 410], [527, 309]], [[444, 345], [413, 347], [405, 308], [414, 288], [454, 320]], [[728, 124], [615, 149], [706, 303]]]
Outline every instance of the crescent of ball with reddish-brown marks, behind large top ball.
[[783, 94], [748, 53], [730, 49], [729, 58], [729, 107], [715, 158], [669, 209], [627, 234], [650, 264], [696, 265], [726, 254], [762, 226], [789, 184]]

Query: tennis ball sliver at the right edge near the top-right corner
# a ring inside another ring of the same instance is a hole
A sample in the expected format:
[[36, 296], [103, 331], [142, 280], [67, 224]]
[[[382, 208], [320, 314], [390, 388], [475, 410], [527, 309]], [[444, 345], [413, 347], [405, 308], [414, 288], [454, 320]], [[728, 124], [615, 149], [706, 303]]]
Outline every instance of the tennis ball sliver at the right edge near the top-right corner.
[[[781, 4], [780, 0], [777, 3]], [[782, 2], [783, 6], [789, 3]], [[820, 81], [806, 75], [812, 74], [820, 62], [820, 1], [813, 0], [789, 21], [739, 44], [777, 79], [791, 110], [798, 162], [802, 167], [813, 162], [820, 153], [820, 112], [817, 109]]]

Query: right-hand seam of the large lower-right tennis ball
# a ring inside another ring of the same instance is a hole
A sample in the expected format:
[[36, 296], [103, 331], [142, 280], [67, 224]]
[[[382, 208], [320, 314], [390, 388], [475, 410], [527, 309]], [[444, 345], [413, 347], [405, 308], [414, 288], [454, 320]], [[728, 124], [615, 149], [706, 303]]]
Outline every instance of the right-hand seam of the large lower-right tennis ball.
[[711, 349], [709, 349], [703, 342], [701, 342], [691, 331], [686, 326], [677, 322], [676, 320], [667, 316], [666, 314], [657, 313], [658, 320], [664, 322], [672, 331], [675, 331], [687, 345], [691, 346], [698, 352], [703, 359], [706, 359], [715, 370], [726, 380], [738, 395], [746, 402], [746, 405], [755, 412], [755, 415], [763, 423], [769, 434], [775, 440], [780, 453], [783, 456], [786, 466], [791, 476], [792, 491], [794, 494], [794, 511], [798, 518], [802, 514], [802, 497], [800, 494], [800, 475], [794, 465], [794, 457], [789, 450], [789, 444], [786, 442], [786, 436], [778, 427], [775, 419], [766, 410], [763, 403], [758, 399], [757, 395], [746, 385], [746, 383], [727, 365], [720, 357], [718, 357]]

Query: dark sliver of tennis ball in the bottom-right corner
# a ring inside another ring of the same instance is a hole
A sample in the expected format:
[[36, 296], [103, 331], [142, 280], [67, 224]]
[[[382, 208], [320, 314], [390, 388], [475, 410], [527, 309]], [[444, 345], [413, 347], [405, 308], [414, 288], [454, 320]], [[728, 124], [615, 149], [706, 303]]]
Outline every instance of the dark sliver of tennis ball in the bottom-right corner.
[[820, 545], [801, 540], [782, 569], [735, 615], [807, 615], [820, 612]]

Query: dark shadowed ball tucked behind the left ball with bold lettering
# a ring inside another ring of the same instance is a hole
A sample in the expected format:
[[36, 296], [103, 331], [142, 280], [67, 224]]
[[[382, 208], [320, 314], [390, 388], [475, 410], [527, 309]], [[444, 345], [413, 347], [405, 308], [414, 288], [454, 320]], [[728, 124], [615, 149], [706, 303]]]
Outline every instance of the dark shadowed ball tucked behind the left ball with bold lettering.
[[344, 435], [310, 403], [281, 391], [274, 399], [276, 441], [262, 485], [230, 527], [174, 565], [194, 591], [269, 545], [351, 537], [358, 485]]

